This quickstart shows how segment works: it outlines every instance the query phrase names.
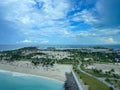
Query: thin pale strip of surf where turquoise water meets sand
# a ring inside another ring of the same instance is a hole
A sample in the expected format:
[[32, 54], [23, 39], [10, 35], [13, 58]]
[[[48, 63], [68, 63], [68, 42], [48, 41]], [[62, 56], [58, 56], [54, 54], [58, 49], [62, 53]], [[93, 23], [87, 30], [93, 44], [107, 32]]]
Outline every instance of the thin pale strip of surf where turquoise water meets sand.
[[[57, 79], [53, 79], [53, 78], [49, 78], [49, 77], [45, 77], [45, 76], [39, 76], [39, 75], [34, 75], [34, 74], [28, 74], [28, 73], [22, 73], [22, 72], [15, 72], [15, 71], [8, 71], [8, 70], [3, 70], [0, 69], [0, 73], [11, 73], [13, 76], [15, 76], [14, 74], [16, 74], [16, 76], [30, 76], [30, 77], [38, 77], [38, 78], [43, 78], [43, 79], [47, 79], [47, 80], [52, 80], [52, 81], [56, 81], [59, 82], [61, 84], [64, 84], [65, 82], [57, 80]], [[19, 75], [17, 75], [19, 74]]]

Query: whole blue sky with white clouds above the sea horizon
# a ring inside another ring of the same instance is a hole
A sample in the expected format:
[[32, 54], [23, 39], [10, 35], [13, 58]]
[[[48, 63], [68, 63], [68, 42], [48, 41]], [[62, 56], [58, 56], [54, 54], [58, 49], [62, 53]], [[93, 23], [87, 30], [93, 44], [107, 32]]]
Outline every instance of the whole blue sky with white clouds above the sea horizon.
[[120, 44], [120, 0], [0, 0], [0, 44]]

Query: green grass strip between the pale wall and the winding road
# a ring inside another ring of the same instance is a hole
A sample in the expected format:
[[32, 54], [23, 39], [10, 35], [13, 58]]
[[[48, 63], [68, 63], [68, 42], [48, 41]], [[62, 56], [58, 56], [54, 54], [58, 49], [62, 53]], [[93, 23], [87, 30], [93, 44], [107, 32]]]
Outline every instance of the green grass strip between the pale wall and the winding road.
[[90, 77], [79, 70], [75, 70], [79, 77], [83, 80], [86, 85], [89, 85], [89, 90], [111, 90], [108, 86], [104, 83], [100, 82], [99, 80]]

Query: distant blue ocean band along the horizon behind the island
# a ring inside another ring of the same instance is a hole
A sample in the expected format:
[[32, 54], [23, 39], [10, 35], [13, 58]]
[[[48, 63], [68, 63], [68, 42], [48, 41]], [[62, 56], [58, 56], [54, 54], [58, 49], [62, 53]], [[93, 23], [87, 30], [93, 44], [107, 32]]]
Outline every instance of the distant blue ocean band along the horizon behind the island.
[[44, 49], [47, 47], [55, 47], [55, 48], [62, 49], [62, 48], [85, 48], [85, 47], [101, 46], [101, 47], [110, 48], [114, 50], [120, 50], [120, 44], [115, 44], [115, 45], [0, 45], [0, 51], [14, 50], [22, 47], [27, 47], [27, 46], [37, 46], [40, 49]]

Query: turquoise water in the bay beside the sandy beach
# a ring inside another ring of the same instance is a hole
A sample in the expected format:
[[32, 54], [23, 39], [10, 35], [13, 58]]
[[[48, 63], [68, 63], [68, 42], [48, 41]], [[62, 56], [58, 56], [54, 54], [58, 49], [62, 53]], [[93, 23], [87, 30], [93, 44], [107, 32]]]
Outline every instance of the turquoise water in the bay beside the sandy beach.
[[0, 72], [0, 90], [64, 90], [63, 83], [41, 77]]

